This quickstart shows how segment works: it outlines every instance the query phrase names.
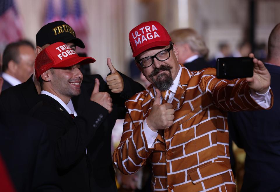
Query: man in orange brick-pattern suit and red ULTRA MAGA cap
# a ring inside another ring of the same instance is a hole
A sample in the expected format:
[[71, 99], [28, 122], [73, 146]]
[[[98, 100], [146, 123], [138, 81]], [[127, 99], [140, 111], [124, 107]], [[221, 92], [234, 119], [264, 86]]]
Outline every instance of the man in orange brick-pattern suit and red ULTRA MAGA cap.
[[190, 71], [178, 64], [176, 45], [155, 21], [135, 27], [129, 41], [136, 65], [152, 84], [126, 102], [115, 165], [133, 174], [149, 159], [153, 191], [236, 191], [226, 111], [271, 108], [263, 63], [254, 59], [253, 77], [231, 81], [217, 79], [213, 68]]

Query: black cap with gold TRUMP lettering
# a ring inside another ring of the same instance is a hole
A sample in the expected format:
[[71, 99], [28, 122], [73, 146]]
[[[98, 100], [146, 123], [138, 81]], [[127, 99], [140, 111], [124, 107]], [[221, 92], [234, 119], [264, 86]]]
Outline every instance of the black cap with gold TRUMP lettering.
[[85, 48], [83, 41], [76, 37], [75, 31], [64, 21], [55, 21], [44, 25], [36, 34], [36, 46], [44, 46], [62, 41], [74, 43], [76, 46]]

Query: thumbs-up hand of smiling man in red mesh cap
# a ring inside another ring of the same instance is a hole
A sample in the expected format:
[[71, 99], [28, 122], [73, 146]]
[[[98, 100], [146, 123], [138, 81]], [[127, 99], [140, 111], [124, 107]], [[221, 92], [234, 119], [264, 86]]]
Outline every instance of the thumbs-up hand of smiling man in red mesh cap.
[[113, 110], [112, 98], [110, 97], [110, 94], [108, 94], [107, 92], [99, 92], [99, 84], [100, 84], [99, 80], [96, 78], [94, 89], [90, 96], [90, 101], [94, 101], [98, 103], [99, 105], [106, 108], [109, 111], [109, 113], [111, 113], [111, 111]]

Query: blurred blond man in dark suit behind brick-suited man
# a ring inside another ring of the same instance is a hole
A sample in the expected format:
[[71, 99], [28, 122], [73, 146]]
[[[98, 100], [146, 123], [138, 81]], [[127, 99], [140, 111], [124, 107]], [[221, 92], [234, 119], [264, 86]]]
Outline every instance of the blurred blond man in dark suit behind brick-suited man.
[[178, 29], [170, 33], [173, 43], [176, 44], [179, 63], [184, 64], [191, 71], [198, 71], [209, 67], [205, 60], [208, 48], [203, 38], [192, 28]]

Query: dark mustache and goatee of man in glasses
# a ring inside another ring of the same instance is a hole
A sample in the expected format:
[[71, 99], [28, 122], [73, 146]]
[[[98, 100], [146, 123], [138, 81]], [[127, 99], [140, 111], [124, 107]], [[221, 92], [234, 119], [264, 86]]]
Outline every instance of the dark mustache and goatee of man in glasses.
[[[173, 85], [173, 79], [171, 75], [171, 66], [168, 65], [160, 65], [159, 68], [154, 69], [149, 77], [152, 79], [155, 87], [160, 91], [165, 91], [169, 89]], [[154, 76], [157, 75], [160, 71], [168, 71], [169, 73], [161, 73], [160, 75], [155, 78]]]

